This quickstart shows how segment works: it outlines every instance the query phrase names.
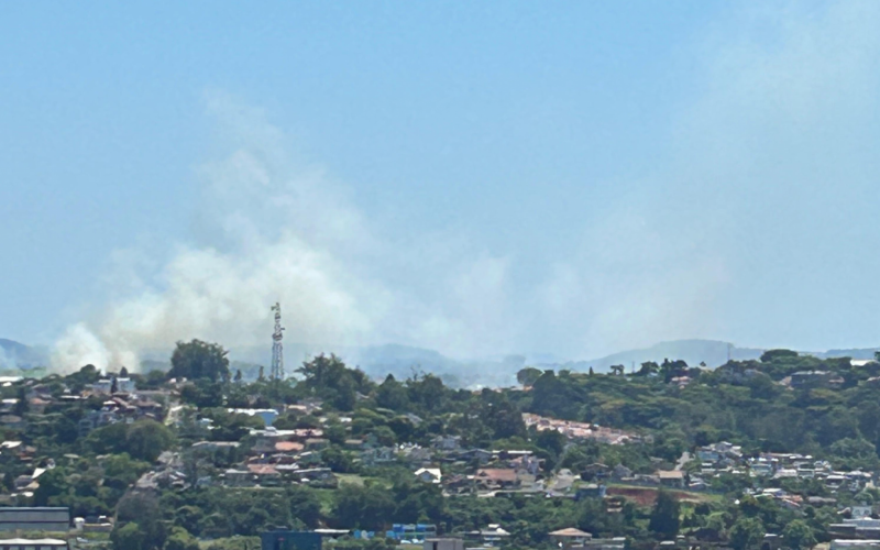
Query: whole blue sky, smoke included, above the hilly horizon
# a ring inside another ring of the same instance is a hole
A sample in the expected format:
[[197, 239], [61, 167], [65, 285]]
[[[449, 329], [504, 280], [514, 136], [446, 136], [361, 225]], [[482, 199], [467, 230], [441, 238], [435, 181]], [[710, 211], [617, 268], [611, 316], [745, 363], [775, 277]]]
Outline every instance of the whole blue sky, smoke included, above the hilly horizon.
[[0, 8], [0, 337], [880, 343], [880, 4]]

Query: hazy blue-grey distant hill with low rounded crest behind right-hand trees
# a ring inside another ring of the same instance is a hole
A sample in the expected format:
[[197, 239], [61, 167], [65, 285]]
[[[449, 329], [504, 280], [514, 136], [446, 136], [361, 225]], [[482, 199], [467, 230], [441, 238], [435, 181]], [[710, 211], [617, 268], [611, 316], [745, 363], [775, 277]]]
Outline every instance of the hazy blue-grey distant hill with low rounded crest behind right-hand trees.
[[590, 361], [568, 362], [559, 366], [572, 371], [586, 371], [592, 366], [595, 371], [605, 372], [612, 365], [624, 365], [627, 372], [629, 372], [634, 364], [636, 369], [638, 369], [641, 363], [647, 361], [660, 363], [664, 359], [669, 359], [670, 361], [681, 359], [692, 366], [696, 366], [702, 362], [705, 363], [706, 366], [715, 367], [727, 362], [728, 350], [730, 359], [736, 361], [759, 359], [761, 353], [763, 353], [763, 350], [737, 348], [729, 342], [722, 342], [719, 340], [675, 340], [671, 342], [660, 342], [650, 348], [622, 351]]

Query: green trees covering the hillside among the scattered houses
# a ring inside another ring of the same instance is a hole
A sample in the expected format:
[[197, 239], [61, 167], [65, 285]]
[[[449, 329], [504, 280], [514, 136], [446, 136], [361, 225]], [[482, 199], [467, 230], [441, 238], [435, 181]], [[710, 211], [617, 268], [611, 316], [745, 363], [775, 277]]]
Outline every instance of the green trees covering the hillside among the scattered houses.
[[[846, 506], [880, 499], [871, 486], [847, 491], [814, 479], [754, 476], [745, 462], [765, 452], [803, 453], [838, 471], [880, 470], [880, 363], [854, 366], [772, 350], [760, 361], [714, 371], [682, 361], [645, 363], [629, 374], [526, 367], [518, 374], [522, 387], [498, 391], [453, 388], [420, 372], [373, 381], [334, 355], [304, 363], [296, 378], [249, 383], [230, 375], [222, 346], [198, 340], [178, 343], [172, 365], [168, 373], [130, 374], [135, 393], [154, 395], [155, 407], [129, 396], [108, 402], [91, 386], [102, 377], [92, 365], [0, 388], [4, 398], [19, 399], [9, 413], [22, 418], [2, 428], [4, 441], [22, 442], [19, 454], [0, 454], [8, 502], [116, 517], [110, 539], [127, 550], [195, 550], [199, 540], [217, 549], [245, 541], [253, 548], [253, 537], [276, 526], [382, 534], [392, 524], [415, 522], [433, 524], [440, 534], [501, 524], [510, 548], [549, 549], [549, 532], [576, 527], [595, 537], [627, 537], [634, 548], [678, 535], [758, 548], [771, 532], [800, 549], [829, 540], [829, 526]], [[803, 372], [821, 374], [796, 374]], [[277, 430], [305, 433], [292, 460], [304, 472], [329, 469], [338, 476], [234, 483], [235, 472], [272, 465], [274, 452], [260, 447], [262, 418], [234, 409], [277, 410]], [[612, 444], [538, 430], [527, 427], [524, 413], [614, 428], [628, 439]], [[441, 451], [436, 438], [452, 438], [461, 455]], [[646, 486], [658, 469], [676, 464], [698, 477], [697, 462], [680, 463], [683, 453], [721, 442], [741, 450], [745, 474], [705, 475], [702, 493]], [[371, 458], [382, 449], [392, 450], [391, 459]], [[495, 454], [465, 454], [474, 450]], [[481, 460], [508, 468], [499, 457], [509, 451], [536, 459], [536, 470], [524, 476], [535, 491], [477, 497], [495, 493], [475, 488], [466, 476]], [[442, 470], [442, 483], [414, 475], [426, 464]], [[610, 477], [607, 470], [618, 465], [631, 472], [630, 481]], [[20, 480], [35, 469], [44, 472], [29, 496], [28, 480]], [[557, 493], [552, 487], [565, 471], [574, 481]], [[593, 482], [608, 485], [604, 499], [587, 491]], [[610, 491], [616, 484], [617, 493]], [[801, 504], [768, 497], [766, 488]], [[811, 504], [810, 497], [824, 501]], [[364, 542], [337, 542], [358, 544]], [[380, 537], [372, 544], [386, 542]]]

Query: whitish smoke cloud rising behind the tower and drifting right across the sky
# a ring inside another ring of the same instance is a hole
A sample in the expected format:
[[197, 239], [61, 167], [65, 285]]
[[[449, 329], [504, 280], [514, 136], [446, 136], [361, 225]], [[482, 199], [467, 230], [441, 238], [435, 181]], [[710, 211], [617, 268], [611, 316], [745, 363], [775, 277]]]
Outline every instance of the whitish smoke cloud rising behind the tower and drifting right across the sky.
[[[878, 206], [880, 4], [761, 3], [736, 18], [707, 31], [700, 89], [673, 117], [663, 163], [573, 227], [576, 245], [528, 280], [528, 250], [384, 230], [265, 113], [208, 95], [223, 154], [198, 170], [191, 240], [120, 251], [109, 305], [67, 330], [54, 363], [133, 366], [190, 338], [267, 343], [275, 301], [296, 342], [459, 358], [584, 358], [674, 338], [811, 348], [854, 311], [880, 321], [877, 300], [851, 296], [878, 261], [844, 252], [880, 244], [847, 231]], [[816, 271], [820, 260], [842, 267]], [[869, 326], [853, 338], [872, 338]]]

